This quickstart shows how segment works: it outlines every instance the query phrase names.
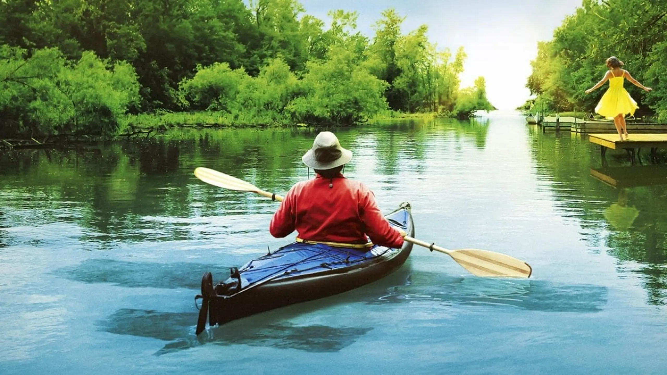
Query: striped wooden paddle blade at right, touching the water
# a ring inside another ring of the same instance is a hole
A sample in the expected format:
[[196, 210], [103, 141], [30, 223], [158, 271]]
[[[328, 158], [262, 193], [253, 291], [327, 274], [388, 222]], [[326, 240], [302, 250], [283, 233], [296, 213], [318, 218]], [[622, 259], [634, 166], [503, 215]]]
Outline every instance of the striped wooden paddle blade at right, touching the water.
[[448, 254], [475, 276], [530, 278], [533, 272], [523, 260], [488, 250], [460, 249], [451, 250]]

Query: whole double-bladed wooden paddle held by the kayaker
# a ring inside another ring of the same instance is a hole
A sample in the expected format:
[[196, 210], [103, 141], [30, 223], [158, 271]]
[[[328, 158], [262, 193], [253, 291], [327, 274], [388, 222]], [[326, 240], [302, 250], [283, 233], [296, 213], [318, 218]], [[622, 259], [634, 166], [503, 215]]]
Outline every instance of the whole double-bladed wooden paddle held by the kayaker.
[[[239, 192], [251, 192], [277, 201], [283, 200], [281, 196], [265, 192], [249, 182], [214, 169], [198, 167], [195, 169], [195, 176], [201, 179], [201, 181], [217, 187], [238, 190]], [[436, 250], [451, 256], [452, 259], [475, 276], [529, 278], [530, 274], [532, 274], [532, 268], [526, 262], [506, 254], [479, 249], [448, 250], [410, 236], [405, 236], [403, 239], [412, 242], [412, 244], [424, 246], [424, 248]]]

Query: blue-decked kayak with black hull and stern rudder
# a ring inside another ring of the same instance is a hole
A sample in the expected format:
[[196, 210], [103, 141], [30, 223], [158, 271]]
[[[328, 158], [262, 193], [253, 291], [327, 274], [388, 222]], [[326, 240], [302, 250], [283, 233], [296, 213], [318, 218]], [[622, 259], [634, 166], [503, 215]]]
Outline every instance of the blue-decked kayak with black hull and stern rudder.
[[[402, 203], [385, 216], [390, 224], [414, 236], [410, 204]], [[339, 244], [340, 245], [340, 244]], [[201, 299], [196, 334], [209, 326], [280, 308], [290, 304], [340, 294], [380, 280], [402, 266], [412, 242], [402, 248], [340, 247], [293, 242], [275, 252], [231, 268], [229, 278], [213, 286], [213, 276], [201, 278]]]

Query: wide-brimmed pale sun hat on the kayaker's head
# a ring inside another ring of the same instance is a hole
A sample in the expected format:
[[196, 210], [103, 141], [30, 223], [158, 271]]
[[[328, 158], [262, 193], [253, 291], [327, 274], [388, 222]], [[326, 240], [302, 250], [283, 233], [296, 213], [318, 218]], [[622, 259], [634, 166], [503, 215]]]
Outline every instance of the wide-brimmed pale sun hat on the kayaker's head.
[[313, 147], [301, 160], [313, 169], [331, 169], [349, 163], [352, 160], [352, 151], [341, 147], [338, 137], [331, 131], [322, 131], [317, 134]]

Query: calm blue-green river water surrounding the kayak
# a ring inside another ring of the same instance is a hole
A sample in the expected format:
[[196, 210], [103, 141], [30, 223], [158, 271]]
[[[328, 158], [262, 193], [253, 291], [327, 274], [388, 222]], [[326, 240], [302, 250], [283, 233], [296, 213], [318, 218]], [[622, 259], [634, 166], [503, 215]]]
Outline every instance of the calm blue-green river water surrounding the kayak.
[[586, 137], [513, 112], [335, 131], [354, 151], [345, 174], [385, 211], [410, 202], [416, 238], [510, 254], [532, 278], [477, 278], [416, 246], [379, 282], [195, 337], [203, 272], [217, 282], [288, 240], [268, 234], [275, 202], [193, 169], [284, 194], [308, 177], [315, 131], [5, 153], [0, 374], [664, 373], [667, 185], [642, 184], [664, 173], [664, 153], [631, 165], [610, 150], [603, 163]]

